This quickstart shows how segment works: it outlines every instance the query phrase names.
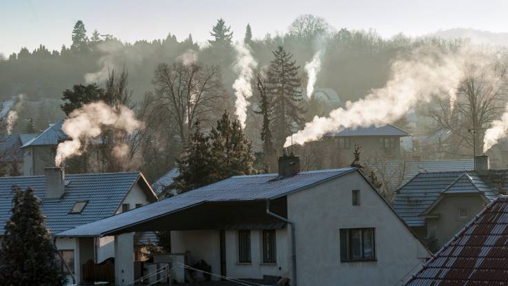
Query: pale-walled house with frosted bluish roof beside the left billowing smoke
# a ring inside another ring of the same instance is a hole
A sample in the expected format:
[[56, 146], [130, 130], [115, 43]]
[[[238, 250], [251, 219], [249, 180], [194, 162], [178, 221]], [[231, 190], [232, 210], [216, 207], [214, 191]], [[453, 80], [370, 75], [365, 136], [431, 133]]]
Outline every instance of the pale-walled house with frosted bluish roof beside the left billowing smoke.
[[63, 121], [50, 125], [34, 139], [23, 144], [23, 174], [38, 176], [44, 174], [44, 168], [54, 167], [57, 145], [68, 139], [62, 131]]

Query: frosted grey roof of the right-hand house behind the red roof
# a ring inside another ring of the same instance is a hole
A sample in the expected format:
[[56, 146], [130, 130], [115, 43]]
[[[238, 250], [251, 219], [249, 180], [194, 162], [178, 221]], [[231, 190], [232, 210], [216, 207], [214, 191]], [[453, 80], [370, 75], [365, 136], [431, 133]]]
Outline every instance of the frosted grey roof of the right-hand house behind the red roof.
[[394, 199], [394, 209], [411, 227], [425, 225], [422, 212], [429, 209], [442, 194], [478, 193], [485, 195], [487, 201], [497, 196], [497, 191], [489, 186], [474, 171], [423, 172], [400, 187]]

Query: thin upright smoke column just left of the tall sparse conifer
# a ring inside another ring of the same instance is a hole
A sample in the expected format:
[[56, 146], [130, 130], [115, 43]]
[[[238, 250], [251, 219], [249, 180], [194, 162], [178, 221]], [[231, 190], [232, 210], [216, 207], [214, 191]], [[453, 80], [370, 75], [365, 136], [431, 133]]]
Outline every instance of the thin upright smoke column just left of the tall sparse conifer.
[[258, 63], [252, 57], [250, 48], [247, 44], [240, 42], [234, 45], [236, 51], [236, 62], [234, 63], [234, 71], [238, 73], [238, 78], [233, 83], [234, 95], [236, 101], [234, 103], [238, 116], [238, 120], [243, 128], [245, 128], [245, 120], [247, 119], [248, 99], [252, 96], [252, 79], [254, 78], [254, 69]]

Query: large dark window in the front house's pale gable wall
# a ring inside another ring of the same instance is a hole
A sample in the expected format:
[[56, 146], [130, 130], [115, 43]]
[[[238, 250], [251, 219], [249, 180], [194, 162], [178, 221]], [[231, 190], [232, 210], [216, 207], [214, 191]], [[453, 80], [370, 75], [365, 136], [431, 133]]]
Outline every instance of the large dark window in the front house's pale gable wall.
[[375, 261], [374, 228], [341, 229], [341, 262]]

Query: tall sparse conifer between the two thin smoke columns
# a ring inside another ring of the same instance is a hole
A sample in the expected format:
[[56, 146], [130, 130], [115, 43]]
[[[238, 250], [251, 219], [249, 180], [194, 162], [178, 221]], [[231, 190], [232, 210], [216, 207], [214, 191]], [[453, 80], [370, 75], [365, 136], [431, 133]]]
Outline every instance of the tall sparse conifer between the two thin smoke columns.
[[301, 79], [298, 77], [299, 65], [293, 61], [293, 54], [278, 46], [273, 52], [275, 59], [270, 61], [267, 90], [273, 98], [274, 113], [272, 131], [276, 136], [274, 143], [277, 150], [282, 148], [287, 136], [304, 122], [301, 108]]

